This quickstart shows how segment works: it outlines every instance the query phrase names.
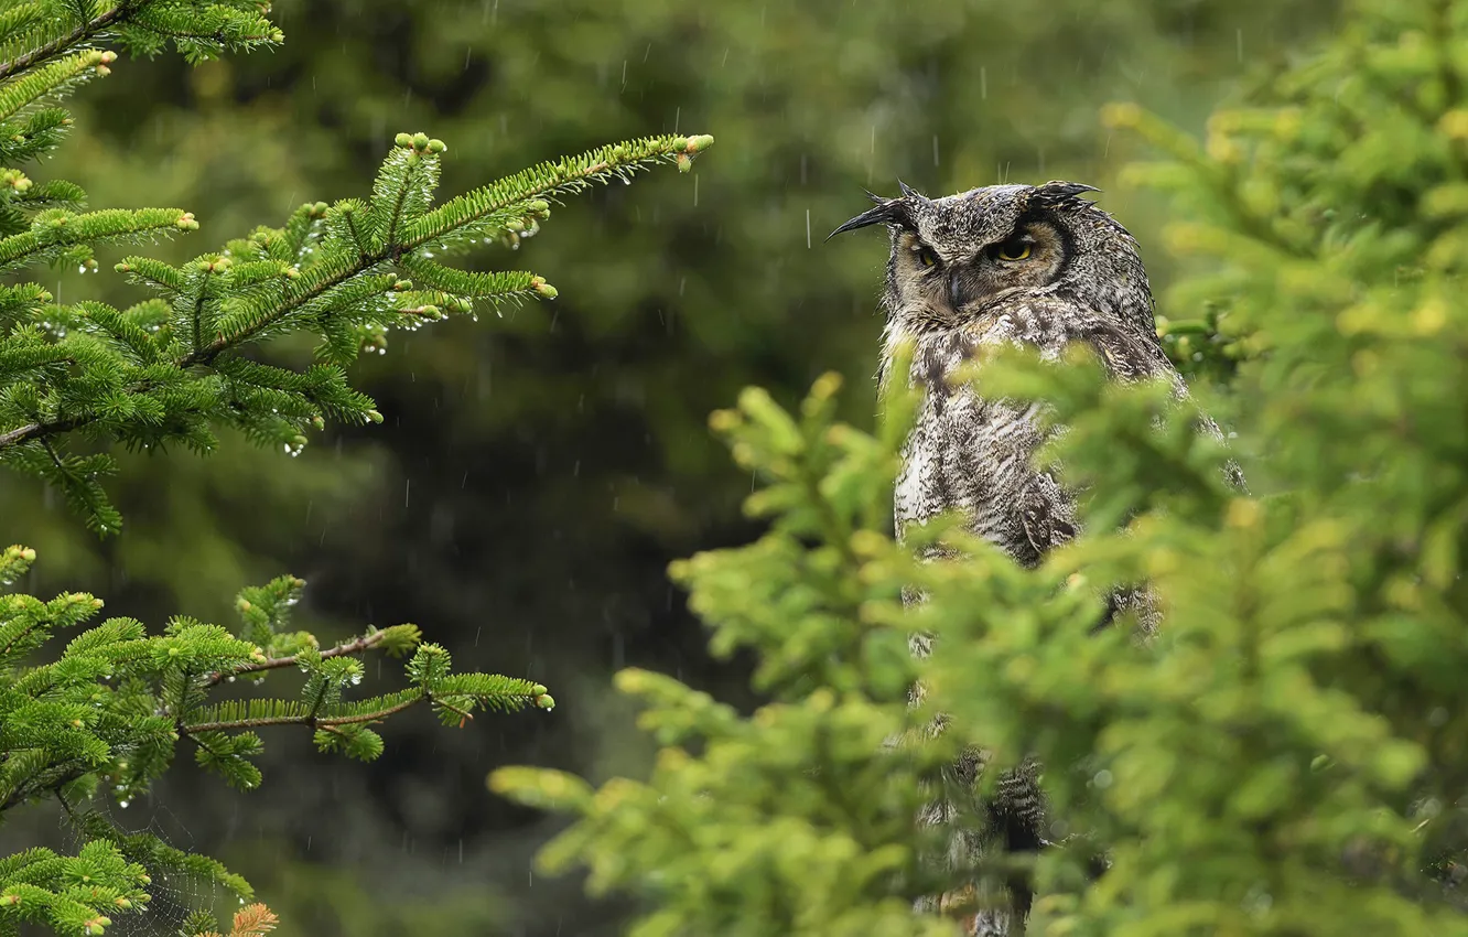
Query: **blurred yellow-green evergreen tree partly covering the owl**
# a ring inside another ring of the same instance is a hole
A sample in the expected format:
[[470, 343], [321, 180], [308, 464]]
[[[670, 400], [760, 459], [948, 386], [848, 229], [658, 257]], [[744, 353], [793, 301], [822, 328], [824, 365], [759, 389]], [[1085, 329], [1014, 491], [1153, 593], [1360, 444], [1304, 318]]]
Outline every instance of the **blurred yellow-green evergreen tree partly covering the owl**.
[[[639, 937], [953, 934], [944, 918], [1006, 902], [1014, 877], [1036, 891], [1032, 934], [1468, 934], [1465, 50], [1461, 3], [1356, 0], [1201, 145], [1105, 113], [1163, 153], [1132, 173], [1188, 219], [1166, 235], [1186, 275], [1160, 328], [1226, 382], [1210, 410], [1252, 496], [1224, 486], [1230, 451], [1192, 405], [1079, 352], [975, 372], [1070, 427], [1048, 455], [1085, 492], [1086, 535], [1033, 571], [951, 526], [894, 545], [901, 399], [876, 436], [832, 420], [825, 379], [802, 414], [759, 391], [718, 414], [771, 529], [672, 574], [716, 651], [759, 655], [772, 702], [744, 717], [624, 673], [665, 746], [649, 780], [490, 778], [578, 815], [545, 865], [642, 897]], [[915, 562], [934, 539], [964, 558]], [[1098, 596], [1141, 580], [1161, 634], [1088, 634]], [[928, 601], [904, 609], [903, 587]], [[938, 636], [931, 659], [906, 658], [907, 630]], [[979, 792], [1047, 765], [1038, 856], [954, 868], [920, 839], [937, 784], [982, 830], [982, 799], [941, 770], [970, 746]], [[937, 893], [941, 915], [909, 912]]]

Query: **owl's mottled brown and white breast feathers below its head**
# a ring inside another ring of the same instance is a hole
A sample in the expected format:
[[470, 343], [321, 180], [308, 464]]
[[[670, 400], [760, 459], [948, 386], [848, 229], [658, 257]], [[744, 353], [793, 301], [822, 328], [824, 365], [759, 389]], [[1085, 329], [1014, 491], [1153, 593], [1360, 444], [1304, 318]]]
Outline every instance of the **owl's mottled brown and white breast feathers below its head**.
[[1039, 404], [981, 398], [956, 372], [982, 345], [1019, 344], [1057, 358], [1066, 345], [1083, 342], [1119, 380], [1171, 375], [1180, 377], [1155, 333], [1111, 316], [1091, 313], [1069, 297], [1031, 295], [954, 329], [915, 336], [910, 382], [923, 388], [918, 423], [903, 449], [895, 515], [903, 526], [959, 511], [970, 529], [1025, 565], [1076, 535], [1075, 501], [1055, 482], [1053, 466], [1035, 466], [1045, 442]]

